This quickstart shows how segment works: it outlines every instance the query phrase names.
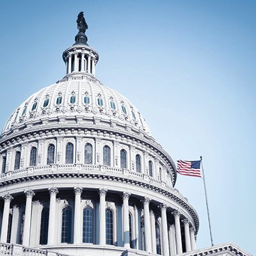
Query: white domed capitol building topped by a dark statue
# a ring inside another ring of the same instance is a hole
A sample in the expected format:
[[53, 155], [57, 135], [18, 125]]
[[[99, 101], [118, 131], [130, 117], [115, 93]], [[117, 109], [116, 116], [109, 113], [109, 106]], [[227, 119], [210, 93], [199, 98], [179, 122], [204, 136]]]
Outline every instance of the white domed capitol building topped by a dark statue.
[[95, 77], [83, 13], [66, 75], [15, 109], [0, 138], [0, 255], [250, 255], [196, 248], [198, 214], [140, 111]]

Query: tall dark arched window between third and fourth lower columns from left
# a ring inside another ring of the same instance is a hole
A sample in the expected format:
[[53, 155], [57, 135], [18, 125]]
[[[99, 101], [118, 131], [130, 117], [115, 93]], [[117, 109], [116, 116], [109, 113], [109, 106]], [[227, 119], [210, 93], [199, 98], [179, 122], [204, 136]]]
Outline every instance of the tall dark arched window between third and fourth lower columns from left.
[[62, 210], [61, 243], [71, 243], [72, 209], [70, 206]]

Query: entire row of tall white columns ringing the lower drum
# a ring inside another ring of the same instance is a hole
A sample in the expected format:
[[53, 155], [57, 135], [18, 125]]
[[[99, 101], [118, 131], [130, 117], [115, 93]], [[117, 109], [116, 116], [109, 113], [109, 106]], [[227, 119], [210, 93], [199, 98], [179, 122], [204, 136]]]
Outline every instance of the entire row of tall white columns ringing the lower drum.
[[[49, 224], [48, 224], [48, 239], [47, 244], [55, 244], [56, 237], [56, 195], [58, 194], [58, 188], [49, 188], [50, 204], [49, 204]], [[74, 200], [74, 244], [81, 243], [81, 194], [83, 188], [75, 187], [75, 200]], [[106, 245], [106, 195], [108, 189], [100, 188], [99, 191], [99, 244]], [[31, 209], [32, 209], [32, 198], [35, 192], [31, 189], [24, 191], [26, 195], [26, 207], [24, 214], [24, 227], [23, 227], [23, 239], [22, 244], [29, 246], [29, 236], [31, 230]], [[130, 233], [129, 233], [129, 198], [131, 193], [127, 191], [122, 192], [122, 221], [123, 221], [123, 241], [124, 248], [130, 248]], [[10, 214], [10, 202], [13, 200], [13, 196], [9, 193], [2, 196], [4, 200], [3, 218], [1, 227], [0, 241], [6, 243], [8, 236], [8, 218]], [[150, 211], [150, 198], [144, 197], [141, 199], [143, 203], [143, 218], [145, 228], [145, 251], [149, 253], [156, 253], [156, 223], [154, 211]], [[182, 235], [180, 223], [184, 225], [184, 237], [186, 244], [186, 252], [196, 250], [195, 243], [195, 228], [189, 228], [188, 218], [180, 220], [181, 213], [178, 210], [172, 212], [175, 223], [170, 225], [167, 220], [168, 205], [159, 204], [157, 205], [161, 211], [161, 254], [164, 256], [176, 255], [183, 252], [182, 250]], [[13, 221], [14, 218], [13, 218]], [[120, 228], [120, 227], [118, 227]], [[16, 230], [17, 234], [17, 230]]]

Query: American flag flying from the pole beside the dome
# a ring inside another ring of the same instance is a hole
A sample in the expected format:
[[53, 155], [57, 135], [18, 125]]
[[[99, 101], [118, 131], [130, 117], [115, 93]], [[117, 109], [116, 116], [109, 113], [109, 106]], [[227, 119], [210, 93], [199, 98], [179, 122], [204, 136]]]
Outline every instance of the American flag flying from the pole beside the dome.
[[178, 160], [177, 163], [178, 163], [177, 172], [179, 172], [180, 174], [195, 176], [195, 177], [202, 177], [200, 173], [201, 160], [199, 161]]

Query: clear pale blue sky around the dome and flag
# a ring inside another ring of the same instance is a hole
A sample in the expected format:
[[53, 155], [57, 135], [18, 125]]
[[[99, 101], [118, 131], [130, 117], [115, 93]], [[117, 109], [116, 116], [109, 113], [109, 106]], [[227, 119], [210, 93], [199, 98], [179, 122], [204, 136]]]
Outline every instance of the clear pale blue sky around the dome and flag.
[[[255, 251], [255, 1], [1, 1], [1, 120], [64, 76], [85, 13], [97, 78], [145, 116], [173, 160], [204, 157], [214, 244]], [[175, 186], [211, 245], [202, 179]]]

